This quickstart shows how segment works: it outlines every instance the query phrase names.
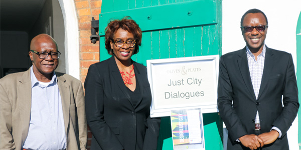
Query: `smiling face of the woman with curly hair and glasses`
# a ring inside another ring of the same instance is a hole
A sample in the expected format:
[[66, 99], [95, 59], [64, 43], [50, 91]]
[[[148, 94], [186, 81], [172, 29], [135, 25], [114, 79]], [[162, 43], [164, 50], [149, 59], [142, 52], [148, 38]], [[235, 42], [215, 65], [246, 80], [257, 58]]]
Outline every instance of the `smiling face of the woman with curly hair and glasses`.
[[[119, 28], [114, 34], [113, 39], [120, 39], [123, 41], [127, 40], [135, 40], [134, 35], [127, 30]], [[126, 44], [123, 44], [122, 47], [117, 47], [113, 41], [110, 41], [111, 48], [113, 49], [113, 53], [115, 55], [115, 59], [120, 61], [121, 63], [130, 62], [130, 57], [133, 55], [134, 47], [128, 47]]]

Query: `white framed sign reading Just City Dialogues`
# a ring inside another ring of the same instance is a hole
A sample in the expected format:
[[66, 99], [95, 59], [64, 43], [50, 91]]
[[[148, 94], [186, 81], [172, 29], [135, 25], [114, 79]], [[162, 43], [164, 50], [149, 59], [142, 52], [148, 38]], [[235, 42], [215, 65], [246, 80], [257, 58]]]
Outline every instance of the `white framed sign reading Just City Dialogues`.
[[219, 55], [146, 60], [152, 90], [152, 117], [175, 108], [217, 112]]

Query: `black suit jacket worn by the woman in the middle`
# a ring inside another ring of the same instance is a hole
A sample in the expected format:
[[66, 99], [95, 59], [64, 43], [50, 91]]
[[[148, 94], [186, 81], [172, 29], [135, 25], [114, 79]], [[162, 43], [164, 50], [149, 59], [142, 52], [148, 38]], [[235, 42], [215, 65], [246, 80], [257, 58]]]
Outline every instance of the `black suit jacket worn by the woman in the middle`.
[[[134, 106], [114, 55], [89, 67], [85, 80], [86, 113], [94, 149], [156, 149], [160, 118], [150, 118], [152, 95], [146, 67], [133, 61], [140, 98]], [[137, 142], [136, 142], [137, 141]]]

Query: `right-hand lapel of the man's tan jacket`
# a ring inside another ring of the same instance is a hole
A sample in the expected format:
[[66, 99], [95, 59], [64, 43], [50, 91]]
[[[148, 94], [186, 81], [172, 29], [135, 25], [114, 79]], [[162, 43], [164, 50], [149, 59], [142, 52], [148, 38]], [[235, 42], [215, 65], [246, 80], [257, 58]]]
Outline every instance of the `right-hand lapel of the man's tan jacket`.
[[69, 116], [70, 116], [70, 87], [66, 83], [66, 79], [63, 76], [58, 75], [58, 86], [62, 99], [62, 109], [64, 116], [64, 124], [65, 124], [65, 133], [68, 135], [68, 127], [69, 127]]

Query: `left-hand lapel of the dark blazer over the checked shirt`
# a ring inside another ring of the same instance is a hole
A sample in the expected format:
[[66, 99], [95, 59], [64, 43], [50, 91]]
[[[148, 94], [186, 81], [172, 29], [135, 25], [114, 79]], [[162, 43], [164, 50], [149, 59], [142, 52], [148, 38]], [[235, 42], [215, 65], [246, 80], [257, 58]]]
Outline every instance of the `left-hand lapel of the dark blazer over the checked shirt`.
[[237, 63], [238, 63], [240, 73], [242, 75], [242, 78], [244, 80], [244, 83], [245, 83], [248, 91], [252, 95], [253, 99], [256, 100], [256, 96], [255, 96], [255, 92], [253, 89], [253, 84], [252, 84], [251, 76], [250, 76], [246, 47], [240, 50], [240, 52], [238, 54]]

